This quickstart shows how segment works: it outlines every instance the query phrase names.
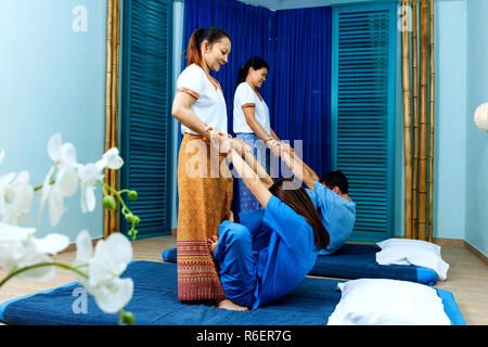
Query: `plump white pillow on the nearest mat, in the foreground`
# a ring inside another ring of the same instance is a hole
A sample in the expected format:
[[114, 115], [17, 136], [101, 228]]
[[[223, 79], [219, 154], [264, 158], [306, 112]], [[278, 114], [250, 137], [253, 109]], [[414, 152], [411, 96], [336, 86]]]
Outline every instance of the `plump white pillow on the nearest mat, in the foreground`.
[[328, 325], [450, 325], [437, 292], [423, 284], [381, 279], [338, 283], [342, 297]]

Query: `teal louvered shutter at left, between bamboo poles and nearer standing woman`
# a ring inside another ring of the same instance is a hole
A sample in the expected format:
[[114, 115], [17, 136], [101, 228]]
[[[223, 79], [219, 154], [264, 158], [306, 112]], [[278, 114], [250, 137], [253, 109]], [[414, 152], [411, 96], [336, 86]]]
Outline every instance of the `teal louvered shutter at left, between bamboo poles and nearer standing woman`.
[[[137, 190], [129, 208], [138, 237], [169, 233], [172, 1], [124, 1], [121, 187]], [[121, 231], [130, 226], [120, 215]]]

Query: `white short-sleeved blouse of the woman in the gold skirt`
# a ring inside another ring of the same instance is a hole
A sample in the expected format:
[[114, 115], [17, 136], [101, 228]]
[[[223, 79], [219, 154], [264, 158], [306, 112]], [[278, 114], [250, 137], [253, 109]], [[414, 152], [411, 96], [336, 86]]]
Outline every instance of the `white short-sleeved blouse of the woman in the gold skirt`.
[[[183, 69], [178, 77], [177, 91], [189, 93], [196, 98], [191, 106], [195, 115], [207, 126], [223, 133], [227, 131], [227, 106], [222, 89], [219, 82], [205, 74], [202, 67], [192, 64]], [[181, 125], [181, 133], [196, 134], [184, 125]]]

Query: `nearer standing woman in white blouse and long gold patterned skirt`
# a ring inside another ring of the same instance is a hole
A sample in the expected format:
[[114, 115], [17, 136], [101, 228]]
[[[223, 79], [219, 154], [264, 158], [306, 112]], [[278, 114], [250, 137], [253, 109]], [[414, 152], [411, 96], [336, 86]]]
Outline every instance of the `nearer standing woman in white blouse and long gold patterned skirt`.
[[[232, 176], [210, 172], [211, 160], [217, 156], [221, 168], [227, 153], [210, 154], [207, 130], [228, 132], [222, 89], [209, 73], [227, 63], [230, 51], [231, 39], [224, 30], [196, 29], [188, 46], [188, 66], [177, 82], [171, 114], [183, 133], [178, 156], [178, 298], [245, 309], [227, 299], [207, 245], [218, 234], [218, 226], [232, 219]], [[221, 146], [219, 151], [223, 152]]]

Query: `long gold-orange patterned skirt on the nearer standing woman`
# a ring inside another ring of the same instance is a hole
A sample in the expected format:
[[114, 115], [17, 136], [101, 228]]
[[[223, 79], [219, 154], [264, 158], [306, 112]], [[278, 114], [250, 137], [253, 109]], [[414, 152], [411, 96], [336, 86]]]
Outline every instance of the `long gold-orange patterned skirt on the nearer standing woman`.
[[178, 299], [224, 299], [207, 240], [229, 219], [232, 176], [201, 136], [184, 133], [178, 156]]

